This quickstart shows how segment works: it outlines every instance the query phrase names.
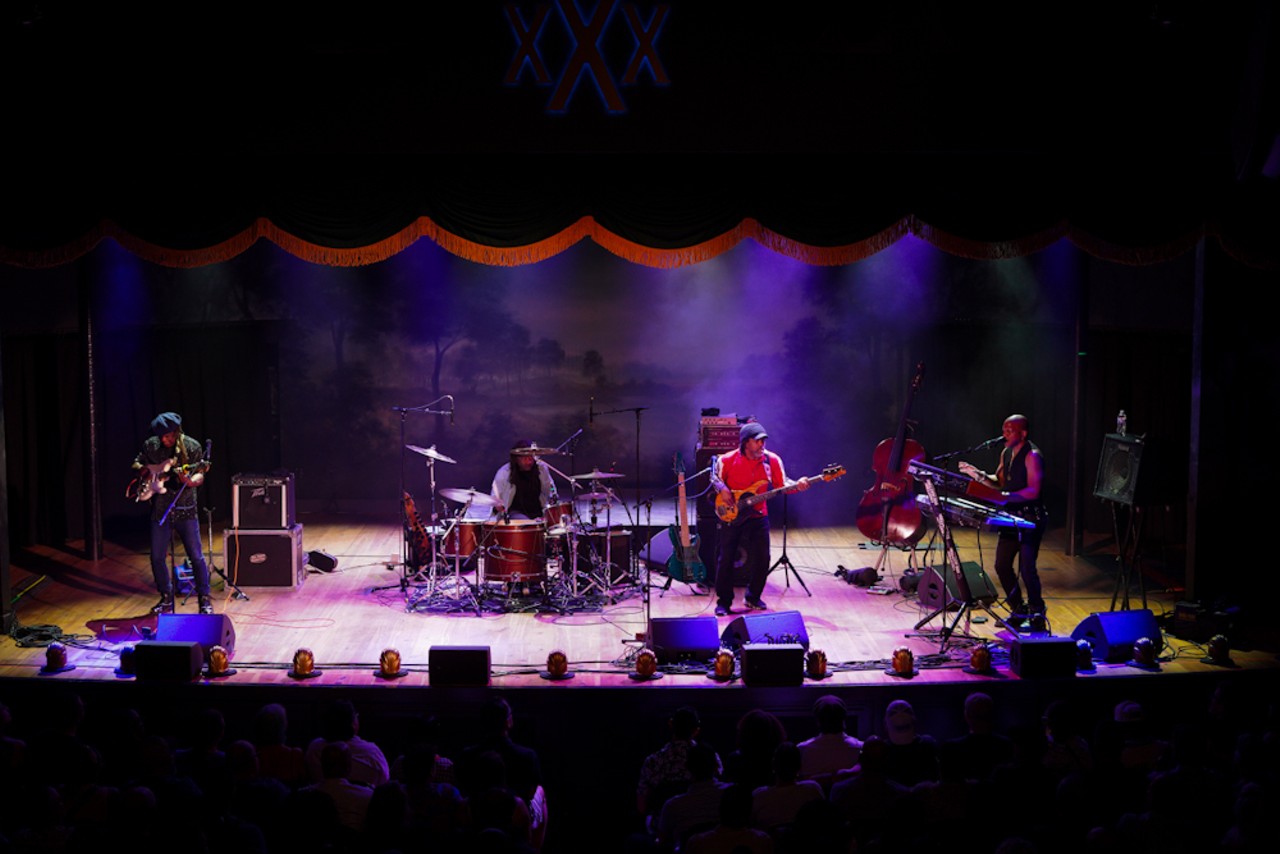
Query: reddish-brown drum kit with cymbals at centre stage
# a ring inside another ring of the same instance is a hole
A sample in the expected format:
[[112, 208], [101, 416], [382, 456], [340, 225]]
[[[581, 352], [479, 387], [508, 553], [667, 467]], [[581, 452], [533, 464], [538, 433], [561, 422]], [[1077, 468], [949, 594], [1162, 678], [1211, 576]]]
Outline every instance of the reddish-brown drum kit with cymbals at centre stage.
[[[434, 463], [456, 461], [434, 446], [406, 448], [428, 458], [433, 490], [453, 507], [408, 549], [415, 565], [406, 566], [415, 588], [406, 589], [410, 611], [598, 611], [635, 585], [631, 531], [611, 525], [620, 501], [608, 483], [623, 475], [599, 469], [564, 475], [552, 467], [575, 498], [554, 498], [540, 519], [515, 519], [497, 513], [489, 493], [435, 489]], [[553, 453], [536, 444], [512, 449], [539, 458]], [[406, 536], [413, 535], [411, 528], [406, 522]]]

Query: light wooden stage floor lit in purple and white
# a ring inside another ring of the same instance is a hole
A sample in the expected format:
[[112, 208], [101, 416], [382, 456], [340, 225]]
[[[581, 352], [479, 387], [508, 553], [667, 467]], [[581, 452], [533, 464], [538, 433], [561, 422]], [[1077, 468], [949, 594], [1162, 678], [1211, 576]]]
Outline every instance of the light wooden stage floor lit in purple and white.
[[[311, 684], [369, 685], [378, 681], [372, 672], [381, 650], [392, 647], [401, 652], [410, 671], [396, 684], [426, 685], [430, 647], [484, 645], [490, 648], [494, 686], [547, 685], [539, 673], [545, 668], [548, 653], [561, 649], [575, 672], [575, 679], [563, 686], [617, 688], [636, 684], [631, 679], [634, 658], [649, 618], [713, 615], [713, 595], [700, 595], [682, 583], [663, 589], [667, 576], [646, 574], [643, 563], [621, 584], [605, 583], [602, 575], [572, 576], [553, 566], [544, 580], [535, 577], [527, 585], [527, 595], [522, 581], [507, 585], [486, 580], [477, 585], [475, 571], [434, 581], [417, 576], [406, 586], [403, 571], [394, 566], [401, 554], [396, 520], [305, 513], [300, 521], [303, 549], [337, 558], [333, 571], [308, 570], [305, 584], [296, 590], [247, 588], [247, 600], [229, 597], [227, 585], [214, 576], [215, 608], [228, 615], [236, 629], [237, 682], [294, 684], [287, 671], [294, 650], [305, 647], [314, 650], [316, 667], [323, 671]], [[643, 542], [644, 536], [636, 538], [636, 543]], [[774, 558], [781, 553], [781, 531], [774, 530]], [[973, 530], [960, 530], [957, 543], [963, 560], [977, 561], [989, 570], [992, 534], [979, 538]], [[230, 574], [221, 554], [221, 531], [215, 531], [214, 544], [211, 562]], [[145, 547], [108, 542], [105, 552], [96, 562], [82, 560], [74, 549], [38, 548], [13, 554], [19, 636], [38, 639], [60, 634], [69, 648], [69, 662], [76, 666], [60, 675], [60, 680], [114, 680], [120, 648], [142, 639], [142, 629], [154, 624], [145, 616], [155, 602]], [[884, 670], [892, 650], [900, 645], [915, 653], [920, 671], [915, 681], [991, 679], [964, 670], [975, 641], [952, 636], [945, 644], [938, 635], [937, 630], [950, 625], [952, 617], [936, 617], [920, 632], [914, 631], [928, 611], [922, 609], [916, 597], [899, 588], [899, 579], [911, 565], [908, 553], [888, 554], [881, 583], [891, 590], [887, 594], [870, 593], [837, 576], [840, 567], [858, 570], [873, 565], [878, 557], [878, 551], [856, 529], [791, 529], [787, 557], [795, 572], [777, 568], [769, 576], [764, 598], [774, 613], [799, 612], [812, 647], [827, 654], [833, 676], [824, 680], [826, 685], [895, 681]], [[937, 557], [927, 560], [924, 552], [916, 560], [922, 565], [941, 562]], [[1052, 634], [1069, 636], [1089, 613], [1110, 609], [1112, 567], [1114, 558], [1106, 554], [1089, 560], [1068, 557], [1060, 538], [1050, 533], [1041, 552], [1041, 576]], [[1149, 586], [1148, 583], [1147, 600], [1155, 615], [1171, 612], [1176, 592]], [[477, 588], [484, 592], [479, 607], [471, 598], [471, 590]], [[579, 595], [571, 597], [573, 593]], [[1132, 604], [1140, 607], [1137, 588], [1130, 595]], [[739, 590], [736, 611], [741, 597]], [[179, 609], [195, 613], [195, 598], [180, 603]], [[998, 606], [992, 611], [1002, 616]], [[719, 618], [718, 630], [723, 631], [740, 613]], [[972, 613], [977, 618], [961, 621], [957, 634], [1001, 641], [1004, 632], [995, 620], [982, 609]], [[1001, 643], [1000, 649], [1006, 647]], [[1204, 652], [1202, 645], [1166, 632], [1161, 671], [1212, 671], [1216, 666], [1201, 662]], [[1231, 657], [1240, 668], [1276, 666], [1272, 652], [1233, 650]], [[23, 648], [12, 638], [0, 640], [0, 676], [36, 676], [45, 661], [42, 647]], [[1016, 679], [1000, 654], [997, 665], [1002, 679]], [[1137, 673], [1146, 675], [1124, 663], [1102, 663], [1087, 676]], [[653, 686], [723, 688], [699, 668], [668, 671]]]

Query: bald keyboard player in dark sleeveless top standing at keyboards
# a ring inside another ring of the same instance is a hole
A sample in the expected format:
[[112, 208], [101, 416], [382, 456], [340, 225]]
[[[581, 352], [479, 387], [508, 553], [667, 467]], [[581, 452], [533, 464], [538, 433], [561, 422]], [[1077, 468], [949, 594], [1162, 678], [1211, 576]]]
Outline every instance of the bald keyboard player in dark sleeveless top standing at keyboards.
[[[1004, 508], [1016, 516], [1036, 522], [1030, 529], [1004, 529], [996, 543], [996, 576], [1005, 589], [1005, 602], [1012, 612], [1014, 622], [1028, 620], [1036, 615], [1043, 617], [1044, 598], [1041, 594], [1039, 571], [1036, 560], [1039, 556], [1041, 536], [1044, 533], [1044, 502], [1041, 499], [1041, 484], [1044, 480], [1044, 458], [1028, 438], [1029, 424], [1025, 415], [1010, 415], [1001, 426], [1005, 448], [1000, 452], [1000, 465], [991, 475], [968, 462], [960, 463], [960, 471], [987, 487], [1000, 489]], [[1018, 572], [1014, 572], [1014, 558], [1018, 558]], [[1023, 589], [1027, 586], [1027, 597]]]

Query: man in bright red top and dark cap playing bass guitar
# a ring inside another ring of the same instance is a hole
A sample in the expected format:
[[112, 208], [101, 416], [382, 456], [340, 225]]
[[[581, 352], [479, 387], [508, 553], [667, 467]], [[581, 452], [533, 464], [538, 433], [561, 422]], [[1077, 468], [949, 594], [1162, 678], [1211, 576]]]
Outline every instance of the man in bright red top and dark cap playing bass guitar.
[[[764, 442], [769, 438], [764, 425], [749, 421], [737, 434], [737, 451], [730, 451], [716, 458], [712, 466], [712, 487], [719, 493], [719, 501], [732, 504], [735, 493], [751, 489], [765, 492], [783, 487], [797, 492], [809, 488], [809, 479], [787, 480], [782, 457], [765, 451]], [[759, 487], [758, 489], [753, 489]], [[746, 567], [750, 580], [746, 588], [746, 608], [764, 611], [768, 608], [760, 594], [769, 576], [769, 508], [767, 502], [742, 511], [745, 519], [732, 524], [717, 525], [718, 548], [716, 553], [716, 616], [732, 613], [733, 606], [733, 560], [741, 548], [746, 553]]]

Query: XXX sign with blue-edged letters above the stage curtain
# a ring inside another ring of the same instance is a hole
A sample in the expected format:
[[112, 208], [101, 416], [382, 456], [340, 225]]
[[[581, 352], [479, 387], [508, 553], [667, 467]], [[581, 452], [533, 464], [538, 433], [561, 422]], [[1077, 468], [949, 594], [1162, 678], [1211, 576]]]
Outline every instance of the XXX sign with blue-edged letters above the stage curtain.
[[[553, 27], [548, 20], [553, 9], [559, 26], [548, 33]], [[635, 3], [618, 0], [600, 0], [589, 13], [579, 8], [577, 0], [538, 4], [527, 17], [513, 3], [507, 4], [503, 12], [516, 37], [516, 52], [507, 67], [503, 83], [520, 86], [531, 77], [535, 86], [553, 87], [547, 101], [548, 113], [567, 113], [582, 81], [594, 85], [607, 113], [627, 111], [620, 86], [637, 85], [643, 69], [648, 69], [654, 85], [671, 83], [658, 56], [658, 36], [671, 13], [667, 4], [655, 5], [648, 20], [641, 17]], [[630, 38], [626, 38], [623, 27], [630, 29]], [[548, 50], [548, 41], [562, 41], [563, 50]], [[559, 74], [552, 76], [547, 68], [547, 55], [556, 52], [564, 54], [564, 64]], [[605, 56], [618, 61], [625, 54], [628, 54], [626, 65], [620, 76], [614, 76]]]

